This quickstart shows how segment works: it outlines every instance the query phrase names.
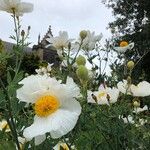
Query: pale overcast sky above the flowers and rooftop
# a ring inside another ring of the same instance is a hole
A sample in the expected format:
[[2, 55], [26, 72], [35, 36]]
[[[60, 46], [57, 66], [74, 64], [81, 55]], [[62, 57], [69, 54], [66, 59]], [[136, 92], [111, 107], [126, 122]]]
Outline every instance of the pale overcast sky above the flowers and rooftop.
[[[103, 33], [104, 38], [111, 36], [106, 30], [113, 20], [101, 0], [23, 0], [34, 4], [34, 11], [22, 17], [22, 27], [31, 26], [30, 42], [37, 43], [39, 33], [43, 36], [48, 26], [52, 26], [53, 35], [60, 30], [68, 31], [71, 38], [76, 38], [80, 30]], [[0, 12], [0, 38], [10, 41], [13, 34], [13, 22], [9, 14]]]

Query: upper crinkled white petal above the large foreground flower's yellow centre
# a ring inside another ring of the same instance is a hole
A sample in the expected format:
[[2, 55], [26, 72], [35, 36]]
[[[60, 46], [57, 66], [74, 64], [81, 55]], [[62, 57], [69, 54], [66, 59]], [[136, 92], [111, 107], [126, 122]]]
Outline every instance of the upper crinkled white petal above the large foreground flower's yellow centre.
[[66, 84], [60, 84], [55, 78], [41, 75], [31, 75], [24, 78], [19, 84], [23, 86], [17, 90], [17, 98], [27, 103], [35, 103], [44, 95], [52, 95], [58, 98], [60, 103], [80, 93], [78, 86], [68, 78]]

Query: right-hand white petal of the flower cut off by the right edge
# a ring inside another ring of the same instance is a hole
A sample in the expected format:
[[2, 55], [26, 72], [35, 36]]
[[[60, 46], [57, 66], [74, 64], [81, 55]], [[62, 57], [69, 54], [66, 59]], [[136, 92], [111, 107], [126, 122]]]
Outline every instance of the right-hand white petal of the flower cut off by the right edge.
[[137, 86], [131, 85], [131, 93], [133, 96], [149, 96], [150, 95], [150, 83], [147, 81], [140, 82]]

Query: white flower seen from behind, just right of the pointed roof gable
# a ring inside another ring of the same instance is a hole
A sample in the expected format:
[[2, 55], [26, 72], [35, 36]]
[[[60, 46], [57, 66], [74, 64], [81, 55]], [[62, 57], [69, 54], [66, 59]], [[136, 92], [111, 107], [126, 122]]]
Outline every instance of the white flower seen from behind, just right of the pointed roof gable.
[[68, 48], [69, 42], [71, 39], [68, 39], [68, 33], [66, 31], [60, 31], [59, 36], [50, 37], [46, 39], [50, 44], [52, 44], [57, 50], [63, 50]]

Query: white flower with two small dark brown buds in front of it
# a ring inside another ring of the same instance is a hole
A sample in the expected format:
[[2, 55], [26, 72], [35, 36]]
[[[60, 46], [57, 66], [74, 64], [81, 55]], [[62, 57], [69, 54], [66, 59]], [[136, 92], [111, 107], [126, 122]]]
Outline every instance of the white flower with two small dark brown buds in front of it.
[[98, 103], [104, 105], [117, 102], [119, 90], [117, 88], [109, 88], [100, 86], [98, 91], [88, 91], [88, 103]]

